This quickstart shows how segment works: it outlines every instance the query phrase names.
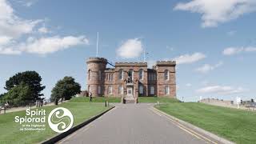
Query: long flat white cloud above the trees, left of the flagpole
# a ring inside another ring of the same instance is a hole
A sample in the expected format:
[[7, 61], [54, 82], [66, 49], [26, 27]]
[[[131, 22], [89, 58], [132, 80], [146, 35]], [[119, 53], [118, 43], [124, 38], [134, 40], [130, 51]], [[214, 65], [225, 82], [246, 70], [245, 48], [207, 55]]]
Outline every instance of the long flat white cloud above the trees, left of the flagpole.
[[19, 50], [33, 54], [50, 54], [58, 50], [65, 50], [70, 46], [89, 44], [89, 40], [84, 36], [73, 37], [67, 36], [60, 38], [59, 36], [50, 38], [28, 38], [27, 42], [19, 46]]

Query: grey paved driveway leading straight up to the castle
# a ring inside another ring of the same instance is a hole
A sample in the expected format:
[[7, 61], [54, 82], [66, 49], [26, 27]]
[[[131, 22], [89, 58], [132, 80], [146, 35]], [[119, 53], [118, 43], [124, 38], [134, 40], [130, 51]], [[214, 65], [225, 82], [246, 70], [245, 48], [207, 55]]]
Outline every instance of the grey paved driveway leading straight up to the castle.
[[89, 125], [59, 143], [88, 144], [201, 144], [207, 143], [154, 113], [152, 104], [116, 104]]

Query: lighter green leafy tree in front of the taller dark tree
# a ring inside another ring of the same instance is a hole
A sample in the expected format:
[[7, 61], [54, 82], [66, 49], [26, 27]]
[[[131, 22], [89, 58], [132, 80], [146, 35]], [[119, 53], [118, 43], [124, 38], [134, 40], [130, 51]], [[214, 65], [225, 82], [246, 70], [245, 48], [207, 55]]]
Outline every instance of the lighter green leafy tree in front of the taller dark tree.
[[3, 97], [3, 100], [9, 102], [10, 106], [26, 106], [34, 100], [33, 91], [25, 82], [14, 86]]

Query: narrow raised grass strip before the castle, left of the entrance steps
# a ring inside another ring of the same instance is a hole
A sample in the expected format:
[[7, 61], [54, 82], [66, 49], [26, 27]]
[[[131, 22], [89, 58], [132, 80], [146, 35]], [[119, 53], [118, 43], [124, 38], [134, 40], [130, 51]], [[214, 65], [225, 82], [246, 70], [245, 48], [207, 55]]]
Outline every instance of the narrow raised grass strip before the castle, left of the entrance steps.
[[[121, 98], [116, 97], [94, 97], [92, 98], [92, 102], [105, 102], [108, 101], [110, 103], [113, 102], [121, 102]], [[70, 102], [90, 102], [89, 97], [74, 97], [70, 99]]]

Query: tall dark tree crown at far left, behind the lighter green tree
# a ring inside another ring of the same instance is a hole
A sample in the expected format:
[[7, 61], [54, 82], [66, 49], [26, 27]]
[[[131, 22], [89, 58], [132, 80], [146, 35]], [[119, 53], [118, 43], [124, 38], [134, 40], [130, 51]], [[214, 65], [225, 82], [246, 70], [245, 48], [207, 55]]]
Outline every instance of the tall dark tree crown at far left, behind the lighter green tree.
[[42, 78], [36, 71], [25, 71], [15, 74], [13, 77], [6, 81], [5, 89], [9, 91], [15, 86], [20, 85], [22, 82], [26, 86], [30, 87], [34, 101], [40, 99], [41, 96], [43, 96], [41, 91], [44, 90], [46, 86], [42, 86]]

